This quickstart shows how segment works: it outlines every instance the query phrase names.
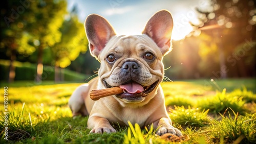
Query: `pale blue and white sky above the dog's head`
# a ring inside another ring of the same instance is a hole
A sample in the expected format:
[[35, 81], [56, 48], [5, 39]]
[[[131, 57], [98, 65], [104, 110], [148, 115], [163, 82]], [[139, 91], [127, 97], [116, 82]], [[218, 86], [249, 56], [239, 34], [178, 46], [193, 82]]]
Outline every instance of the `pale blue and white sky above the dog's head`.
[[198, 23], [195, 8], [205, 8], [208, 0], [68, 0], [68, 9], [78, 8], [78, 17], [84, 22], [89, 14], [106, 18], [119, 35], [138, 35], [146, 22], [162, 9], [172, 13], [174, 29], [172, 39], [180, 40], [193, 31], [189, 21]]

